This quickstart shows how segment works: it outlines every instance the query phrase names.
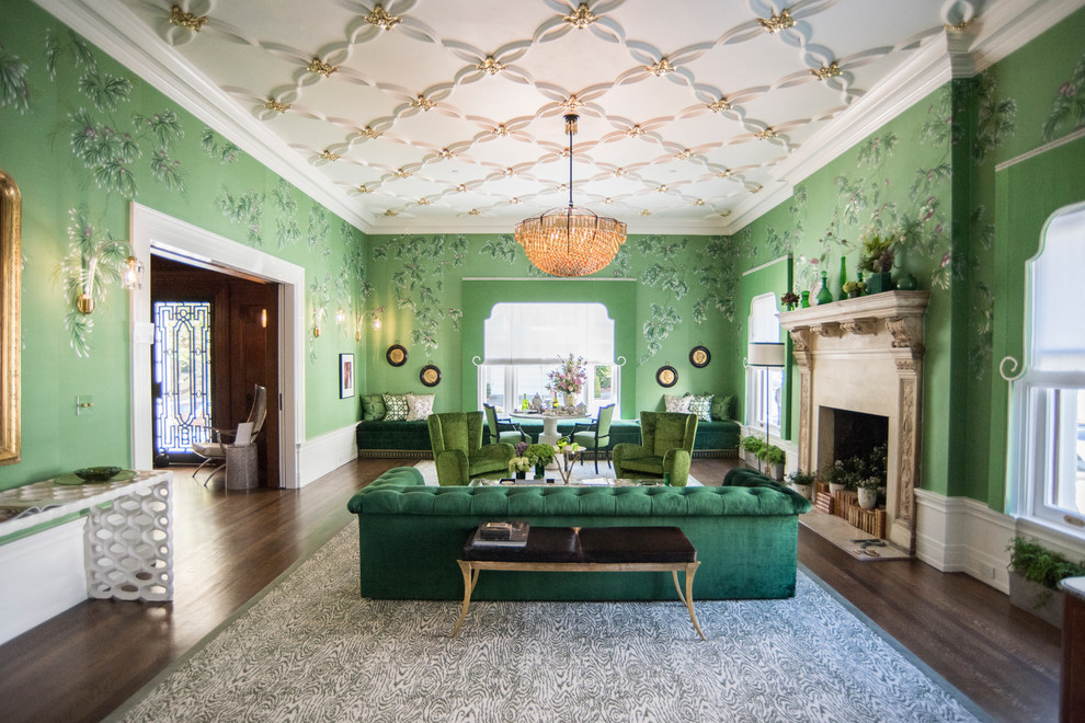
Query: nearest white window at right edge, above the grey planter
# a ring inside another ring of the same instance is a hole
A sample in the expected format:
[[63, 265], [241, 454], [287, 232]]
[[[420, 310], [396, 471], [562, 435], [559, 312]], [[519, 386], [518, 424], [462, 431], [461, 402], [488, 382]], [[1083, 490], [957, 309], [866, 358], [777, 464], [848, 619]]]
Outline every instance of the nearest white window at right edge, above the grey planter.
[[1085, 537], [1085, 204], [1054, 214], [1025, 272], [1025, 371], [1013, 381], [1006, 510]]

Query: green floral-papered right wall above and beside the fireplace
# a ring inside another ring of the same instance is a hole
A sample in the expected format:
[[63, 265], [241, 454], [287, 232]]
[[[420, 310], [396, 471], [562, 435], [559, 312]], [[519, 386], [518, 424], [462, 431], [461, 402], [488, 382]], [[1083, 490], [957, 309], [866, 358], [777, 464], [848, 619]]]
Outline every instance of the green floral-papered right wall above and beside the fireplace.
[[[1007, 355], [1021, 358], [1024, 262], [1036, 253], [1043, 220], [1085, 199], [1085, 144], [1019, 168], [995, 167], [1085, 126], [1083, 38], [1078, 11], [984, 73], [909, 108], [738, 234], [743, 268], [791, 253], [796, 290], [813, 295], [822, 267], [838, 291], [841, 256], [854, 278], [864, 231], [906, 232], [903, 266], [932, 291], [922, 486], [998, 510], [1008, 399], [998, 365]], [[736, 371], [734, 383], [740, 378]], [[791, 414], [797, 418], [797, 394]], [[791, 433], [793, 439], [797, 426]]]

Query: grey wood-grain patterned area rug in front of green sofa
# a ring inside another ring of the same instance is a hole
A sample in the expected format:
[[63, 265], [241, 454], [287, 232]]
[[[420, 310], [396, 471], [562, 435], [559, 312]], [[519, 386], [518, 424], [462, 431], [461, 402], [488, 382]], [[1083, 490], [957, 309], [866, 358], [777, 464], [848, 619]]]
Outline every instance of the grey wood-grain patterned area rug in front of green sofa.
[[987, 720], [801, 571], [695, 605], [707, 642], [679, 602], [478, 601], [452, 640], [458, 602], [358, 597], [355, 523], [108, 720]]

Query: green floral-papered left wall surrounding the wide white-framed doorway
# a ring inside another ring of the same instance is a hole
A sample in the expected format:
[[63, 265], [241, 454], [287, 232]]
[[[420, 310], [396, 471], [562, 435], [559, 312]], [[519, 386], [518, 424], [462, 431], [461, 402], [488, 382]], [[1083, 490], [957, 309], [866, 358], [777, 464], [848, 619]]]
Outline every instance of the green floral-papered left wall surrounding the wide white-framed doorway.
[[[365, 290], [357, 229], [28, 0], [0, 13], [0, 128], [24, 259], [22, 461], [0, 467], [0, 489], [130, 460], [127, 292], [99, 286], [90, 317], [72, 315], [66, 294], [80, 246], [127, 243], [129, 200], [304, 266], [310, 318], [319, 307], [329, 317], [319, 338], [310, 326], [299, 433], [357, 418], [357, 399], [339, 399], [338, 355], [364, 344], [334, 323]], [[76, 416], [77, 395], [93, 397], [93, 414]]]

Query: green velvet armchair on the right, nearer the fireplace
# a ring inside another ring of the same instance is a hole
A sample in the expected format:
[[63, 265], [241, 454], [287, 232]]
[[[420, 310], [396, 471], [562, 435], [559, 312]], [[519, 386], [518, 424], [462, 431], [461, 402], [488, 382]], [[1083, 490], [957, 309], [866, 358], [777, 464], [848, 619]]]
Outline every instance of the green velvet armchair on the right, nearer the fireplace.
[[684, 487], [696, 436], [696, 414], [641, 412], [640, 444], [614, 446], [614, 473], [633, 479], [669, 475], [672, 485]]

